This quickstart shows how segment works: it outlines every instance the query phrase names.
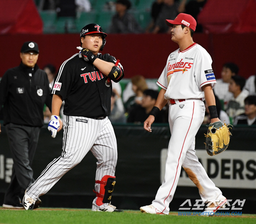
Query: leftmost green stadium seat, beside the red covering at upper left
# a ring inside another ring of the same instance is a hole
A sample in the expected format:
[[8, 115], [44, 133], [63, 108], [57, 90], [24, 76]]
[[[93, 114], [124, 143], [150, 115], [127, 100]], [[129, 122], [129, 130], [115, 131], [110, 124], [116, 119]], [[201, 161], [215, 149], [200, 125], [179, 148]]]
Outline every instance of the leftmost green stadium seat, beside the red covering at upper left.
[[44, 10], [40, 12], [44, 23], [44, 33], [55, 33], [57, 14], [55, 10]]

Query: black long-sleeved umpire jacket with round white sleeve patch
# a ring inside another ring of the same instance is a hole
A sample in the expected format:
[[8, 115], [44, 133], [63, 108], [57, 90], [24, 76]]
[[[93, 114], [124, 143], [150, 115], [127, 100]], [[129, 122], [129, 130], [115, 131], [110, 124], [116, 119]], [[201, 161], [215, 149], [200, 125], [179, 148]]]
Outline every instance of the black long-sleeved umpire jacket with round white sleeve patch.
[[0, 110], [3, 107], [4, 125], [41, 127], [44, 125], [44, 105], [52, 110], [49, 80], [45, 71], [26, 67], [8, 69], [0, 82]]

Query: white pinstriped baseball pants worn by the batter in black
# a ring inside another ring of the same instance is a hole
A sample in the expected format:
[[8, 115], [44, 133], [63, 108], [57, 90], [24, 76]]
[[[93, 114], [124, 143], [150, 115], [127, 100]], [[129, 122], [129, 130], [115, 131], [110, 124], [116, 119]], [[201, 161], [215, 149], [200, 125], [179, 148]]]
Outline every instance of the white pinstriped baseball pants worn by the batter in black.
[[[95, 180], [101, 180], [105, 175], [114, 176], [117, 143], [108, 117], [96, 120], [64, 115], [63, 129], [61, 156], [49, 163], [37, 180], [27, 188], [27, 194], [34, 200], [46, 194], [66, 172], [82, 161], [89, 150], [98, 160]], [[99, 184], [95, 184], [95, 190], [99, 192]], [[96, 199], [92, 209], [102, 209], [108, 205], [105, 203], [97, 206]]]

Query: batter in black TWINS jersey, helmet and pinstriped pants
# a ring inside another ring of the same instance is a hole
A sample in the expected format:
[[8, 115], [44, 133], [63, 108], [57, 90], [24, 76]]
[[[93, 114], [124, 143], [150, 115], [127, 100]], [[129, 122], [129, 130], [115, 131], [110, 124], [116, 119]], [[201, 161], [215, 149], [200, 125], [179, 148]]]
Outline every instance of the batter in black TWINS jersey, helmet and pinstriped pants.
[[47, 193], [67, 171], [76, 166], [91, 150], [97, 158], [95, 177], [96, 198], [93, 211], [122, 212], [110, 204], [117, 163], [117, 143], [108, 119], [112, 92], [111, 80], [124, 77], [123, 67], [113, 56], [102, 55], [107, 34], [98, 24], [81, 30], [79, 53], [61, 65], [52, 88], [52, 117], [48, 129], [52, 137], [59, 128], [59, 111], [64, 106], [63, 150], [31, 184], [24, 195], [26, 210], [33, 210], [35, 200]]

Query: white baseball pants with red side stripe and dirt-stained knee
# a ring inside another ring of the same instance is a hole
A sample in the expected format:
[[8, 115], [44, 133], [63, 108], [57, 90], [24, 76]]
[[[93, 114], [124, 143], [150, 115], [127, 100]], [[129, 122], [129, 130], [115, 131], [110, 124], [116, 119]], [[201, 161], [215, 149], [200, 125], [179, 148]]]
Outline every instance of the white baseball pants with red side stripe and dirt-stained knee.
[[167, 151], [165, 178], [152, 202], [159, 212], [169, 214], [169, 204], [177, 187], [181, 166], [198, 187], [203, 201], [215, 200], [222, 195], [195, 155], [195, 136], [203, 122], [204, 112], [202, 100], [176, 100], [176, 104], [169, 106], [171, 138]]

